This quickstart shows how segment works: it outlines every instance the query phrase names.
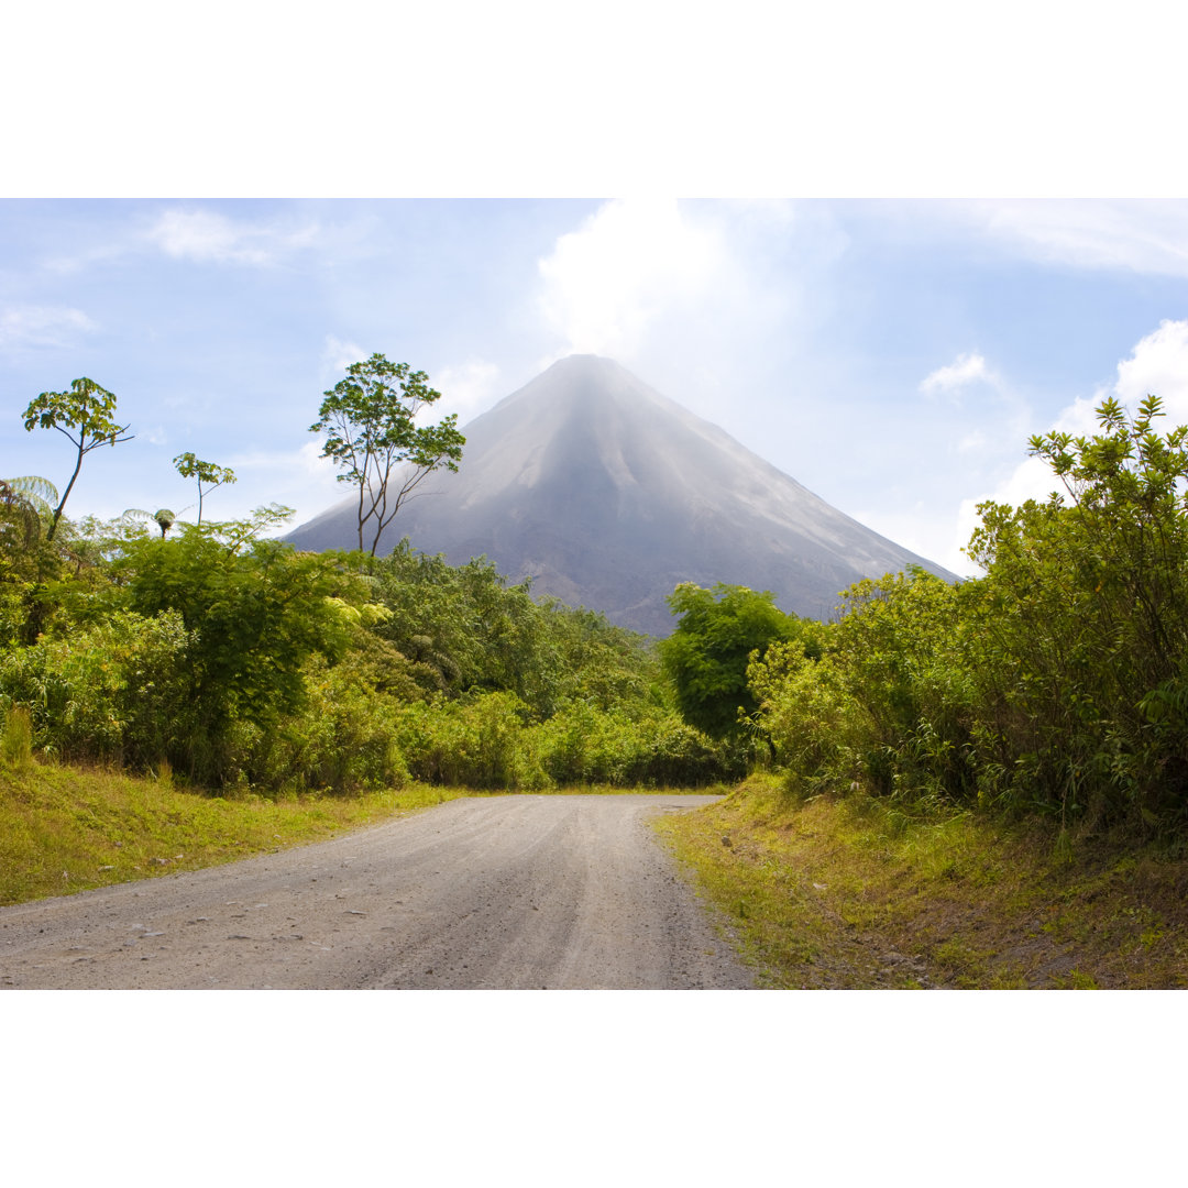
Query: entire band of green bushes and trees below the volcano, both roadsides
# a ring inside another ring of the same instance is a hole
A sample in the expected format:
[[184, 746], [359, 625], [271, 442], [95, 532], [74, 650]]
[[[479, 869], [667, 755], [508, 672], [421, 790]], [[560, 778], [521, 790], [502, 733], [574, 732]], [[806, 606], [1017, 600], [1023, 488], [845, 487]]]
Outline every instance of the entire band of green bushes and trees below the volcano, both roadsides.
[[[93, 387], [78, 466], [131, 448]], [[70, 428], [45, 416], [31, 405], [26, 428]], [[457, 437], [449, 461], [465, 466]], [[967, 551], [982, 576], [887, 574], [819, 623], [723, 574], [677, 587], [664, 640], [537, 599], [482, 557], [453, 567], [407, 541], [375, 555], [362, 526], [355, 551], [303, 554], [274, 538], [289, 514], [276, 506], [210, 519], [234, 475], [192, 455], [176, 460], [204, 497], [192, 523], [164, 508], [71, 519], [50, 479], [5, 479], [5, 763], [263, 796], [703, 786], [764, 767], [794, 798], [1177, 833], [1186, 437], [1161, 426], [1156, 397], [1133, 415], [1107, 400], [1094, 435], [1030, 441], [1050, 498], [980, 506]]]

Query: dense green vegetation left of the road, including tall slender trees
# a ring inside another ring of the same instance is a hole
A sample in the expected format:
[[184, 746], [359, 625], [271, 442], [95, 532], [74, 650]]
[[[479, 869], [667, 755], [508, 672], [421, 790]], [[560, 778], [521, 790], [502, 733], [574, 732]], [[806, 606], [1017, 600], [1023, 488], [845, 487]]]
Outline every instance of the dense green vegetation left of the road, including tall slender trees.
[[[75, 388], [75, 403], [43, 393], [26, 419], [78, 428], [83, 453], [126, 440], [114, 397]], [[361, 533], [410, 489], [384, 494], [396, 463], [456, 466], [453, 418], [412, 425], [437, 398], [381, 355], [327, 393], [315, 429], [375, 500], [360, 504]], [[274, 506], [203, 520], [204, 495], [234, 474], [192, 454], [175, 465], [197, 481], [197, 523], [166, 510], [75, 523], [44, 480], [0, 486], [0, 709], [20, 712], [11, 721], [27, 722], [40, 760], [268, 797], [416, 781], [684, 786], [745, 771], [738, 745], [682, 720], [644, 637], [535, 599], [481, 557], [451, 567], [406, 543], [377, 557], [374, 539], [369, 552], [301, 554], [268, 538], [290, 514]]]

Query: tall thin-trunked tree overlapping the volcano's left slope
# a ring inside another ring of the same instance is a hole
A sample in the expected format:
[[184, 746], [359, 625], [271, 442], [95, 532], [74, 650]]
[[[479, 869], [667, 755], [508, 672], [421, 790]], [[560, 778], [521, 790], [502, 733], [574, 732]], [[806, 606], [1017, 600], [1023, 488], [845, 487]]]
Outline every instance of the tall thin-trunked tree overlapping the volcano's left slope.
[[[444, 467], [457, 470], [466, 438], [450, 413], [437, 425], [413, 425], [426, 404], [441, 399], [424, 372], [407, 364], [391, 364], [383, 355], [352, 364], [347, 378], [329, 392], [311, 434], [327, 435], [322, 457], [343, 470], [340, 482], [359, 487], [359, 548], [365, 530], [375, 556], [380, 535], [425, 475]], [[398, 489], [390, 489], [392, 470], [409, 463]]]

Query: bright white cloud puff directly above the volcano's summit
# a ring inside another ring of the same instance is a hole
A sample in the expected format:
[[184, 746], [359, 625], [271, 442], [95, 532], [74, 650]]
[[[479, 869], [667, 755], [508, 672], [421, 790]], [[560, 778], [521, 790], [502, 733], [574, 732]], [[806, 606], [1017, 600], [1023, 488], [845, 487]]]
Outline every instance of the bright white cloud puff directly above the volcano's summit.
[[702, 298], [725, 268], [719, 234], [671, 198], [619, 198], [539, 261], [541, 299], [563, 354], [630, 355], [674, 305]]

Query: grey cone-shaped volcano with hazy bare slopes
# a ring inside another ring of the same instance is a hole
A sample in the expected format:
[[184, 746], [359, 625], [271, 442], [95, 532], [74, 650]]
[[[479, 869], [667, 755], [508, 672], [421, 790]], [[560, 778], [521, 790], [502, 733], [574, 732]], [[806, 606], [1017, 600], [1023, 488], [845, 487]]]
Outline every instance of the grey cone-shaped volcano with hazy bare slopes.
[[[465, 426], [456, 474], [424, 482], [380, 541], [451, 564], [485, 555], [537, 595], [666, 636], [678, 582], [771, 590], [828, 619], [862, 577], [918, 557], [832, 507], [611, 359], [570, 355]], [[290, 533], [301, 549], [358, 544], [358, 497]]]

